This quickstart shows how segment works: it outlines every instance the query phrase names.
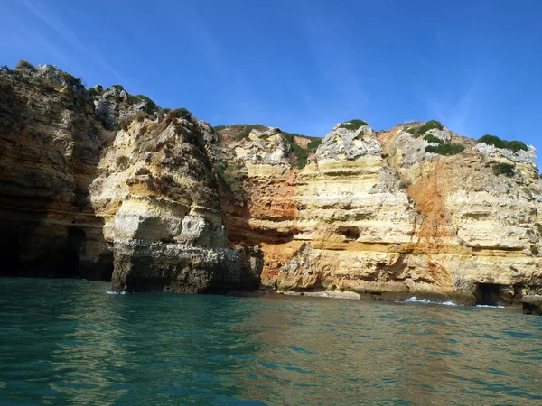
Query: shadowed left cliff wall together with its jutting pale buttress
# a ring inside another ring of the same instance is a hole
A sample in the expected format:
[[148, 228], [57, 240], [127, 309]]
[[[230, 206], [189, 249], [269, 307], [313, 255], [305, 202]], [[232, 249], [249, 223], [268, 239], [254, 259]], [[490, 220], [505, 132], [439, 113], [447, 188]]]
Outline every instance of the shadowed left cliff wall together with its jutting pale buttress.
[[3, 273], [110, 279], [116, 291], [257, 287], [261, 253], [229, 247], [210, 125], [140, 114], [148, 102], [118, 88], [93, 93], [94, 109], [53, 67], [0, 75]]

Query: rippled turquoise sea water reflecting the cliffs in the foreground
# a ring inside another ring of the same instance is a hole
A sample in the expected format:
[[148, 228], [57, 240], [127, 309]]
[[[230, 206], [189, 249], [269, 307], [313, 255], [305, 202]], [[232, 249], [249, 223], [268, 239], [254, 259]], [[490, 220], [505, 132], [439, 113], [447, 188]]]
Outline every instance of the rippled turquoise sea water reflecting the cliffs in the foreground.
[[0, 404], [542, 404], [542, 318], [0, 279]]

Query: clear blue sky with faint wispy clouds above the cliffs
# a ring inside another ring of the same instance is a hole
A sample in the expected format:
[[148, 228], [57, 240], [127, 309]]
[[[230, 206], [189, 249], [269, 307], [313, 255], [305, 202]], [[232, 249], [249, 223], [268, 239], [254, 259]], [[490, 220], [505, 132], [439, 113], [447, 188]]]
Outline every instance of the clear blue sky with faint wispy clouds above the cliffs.
[[212, 125], [438, 119], [542, 147], [542, 1], [0, 0], [0, 64], [50, 63]]

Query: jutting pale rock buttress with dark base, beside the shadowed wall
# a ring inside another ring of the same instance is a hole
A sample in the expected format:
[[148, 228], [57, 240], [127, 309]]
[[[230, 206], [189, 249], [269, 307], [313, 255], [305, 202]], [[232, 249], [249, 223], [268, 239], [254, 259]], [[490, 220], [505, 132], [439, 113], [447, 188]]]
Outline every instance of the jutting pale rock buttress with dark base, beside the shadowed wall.
[[117, 291], [241, 289], [216, 180], [193, 119], [134, 120], [117, 133], [90, 185], [113, 240]]

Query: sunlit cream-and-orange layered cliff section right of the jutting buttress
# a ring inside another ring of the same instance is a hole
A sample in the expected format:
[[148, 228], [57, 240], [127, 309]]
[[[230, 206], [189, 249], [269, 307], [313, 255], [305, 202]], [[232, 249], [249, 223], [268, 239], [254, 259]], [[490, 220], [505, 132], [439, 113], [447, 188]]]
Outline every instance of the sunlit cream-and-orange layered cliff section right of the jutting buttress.
[[[270, 158], [286, 143], [272, 129], [230, 147], [249, 198], [225, 206], [226, 224], [234, 241], [262, 247], [265, 286], [466, 303], [511, 303], [540, 290], [532, 148], [499, 150], [431, 130], [465, 147], [442, 156], [425, 152], [431, 143], [406, 125], [380, 134], [348, 126], [336, 125], [301, 171]], [[504, 161], [515, 165], [512, 178], [492, 169]]]

